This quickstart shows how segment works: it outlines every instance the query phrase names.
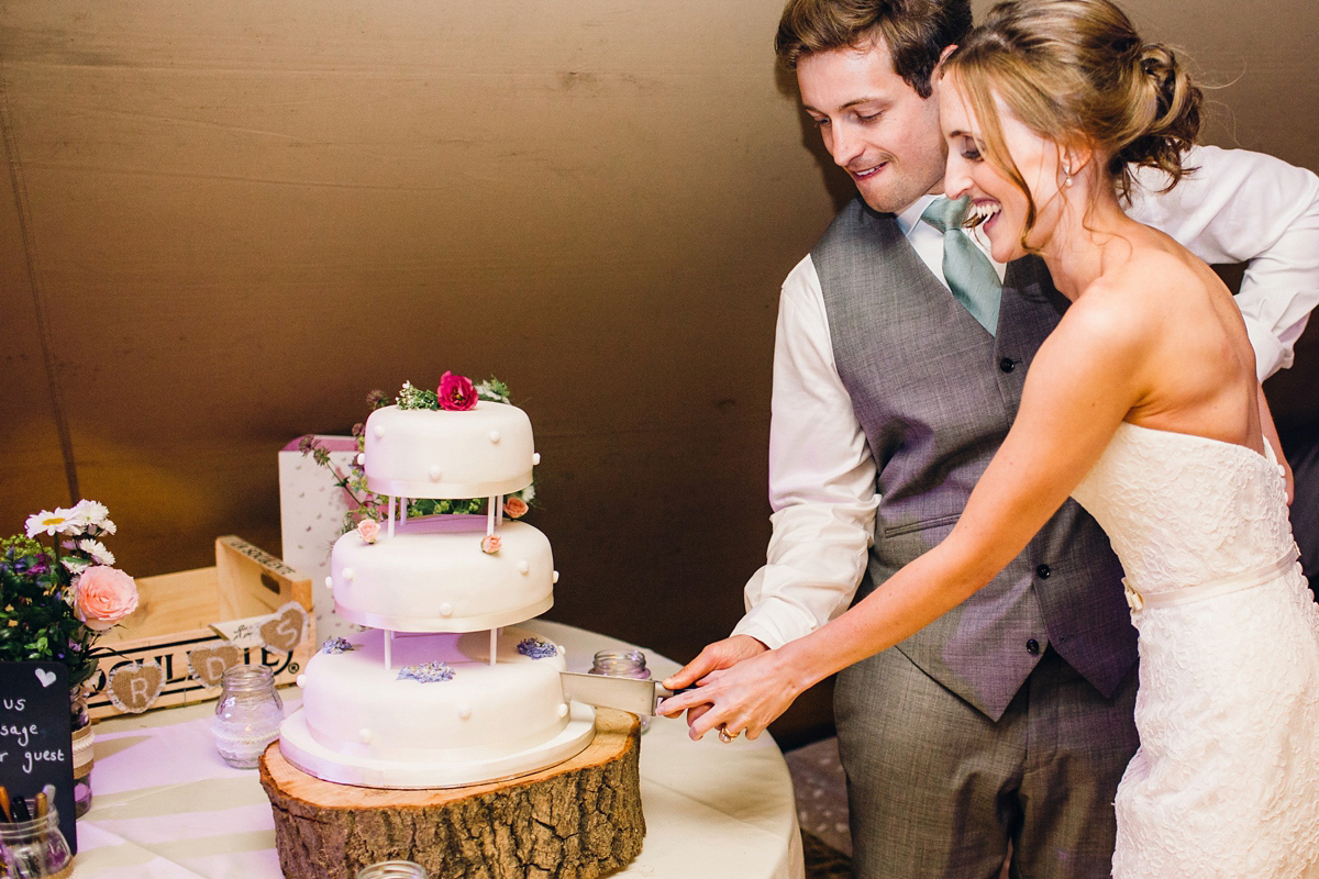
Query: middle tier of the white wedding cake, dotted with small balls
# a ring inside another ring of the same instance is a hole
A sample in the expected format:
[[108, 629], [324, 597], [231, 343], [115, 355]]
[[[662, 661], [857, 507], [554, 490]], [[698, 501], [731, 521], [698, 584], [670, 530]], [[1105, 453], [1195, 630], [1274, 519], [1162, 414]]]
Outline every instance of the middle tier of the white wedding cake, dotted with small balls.
[[330, 556], [335, 611], [392, 631], [477, 631], [537, 617], [554, 604], [550, 542], [525, 522], [499, 527], [485, 552], [483, 515], [413, 519], [367, 543], [344, 534]]

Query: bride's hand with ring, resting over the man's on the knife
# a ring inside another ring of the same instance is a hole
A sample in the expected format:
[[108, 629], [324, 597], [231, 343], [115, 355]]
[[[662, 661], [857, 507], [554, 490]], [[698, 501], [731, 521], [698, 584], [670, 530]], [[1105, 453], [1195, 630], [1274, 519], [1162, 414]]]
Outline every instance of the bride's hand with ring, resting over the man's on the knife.
[[744, 659], [732, 668], [710, 672], [698, 689], [663, 700], [660, 713], [677, 717], [700, 705], [708, 706], [691, 720], [687, 735], [699, 741], [714, 729], [727, 730], [736, 737], [760, 735], [802, 692], [797, 675], [786, 667], [781, 650], [770, 650]]

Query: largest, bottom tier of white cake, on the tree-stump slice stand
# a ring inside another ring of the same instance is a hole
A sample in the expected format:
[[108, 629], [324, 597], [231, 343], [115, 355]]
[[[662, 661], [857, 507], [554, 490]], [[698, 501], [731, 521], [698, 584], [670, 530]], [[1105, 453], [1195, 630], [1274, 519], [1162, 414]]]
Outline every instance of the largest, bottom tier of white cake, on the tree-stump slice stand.
[[592, 709], [563, 700], [562, 648], [530, 633], [503, 630], [495, 663], [489, 633], [371, 630], [348, 644], [311, 658], [302, 709], [280, 727], [288, 760], [318, 779], [456, 787], [533, 772], [591, 742]]

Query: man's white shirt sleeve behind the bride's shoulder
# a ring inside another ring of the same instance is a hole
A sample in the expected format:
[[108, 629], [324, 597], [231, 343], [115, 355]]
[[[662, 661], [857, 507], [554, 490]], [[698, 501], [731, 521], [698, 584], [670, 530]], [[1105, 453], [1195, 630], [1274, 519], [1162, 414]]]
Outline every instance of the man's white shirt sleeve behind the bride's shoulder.
[[1199, 146], [1195, 167], [1166, 194], [1166, 178], [1138, 174], [1130, 215], [1167, 232], [1210, 264], [1245, 262], [1236, 297], [1265, 380], [1291, 365], [1293, 345], [1319, 304], [1319, 177], [1249, 150]]

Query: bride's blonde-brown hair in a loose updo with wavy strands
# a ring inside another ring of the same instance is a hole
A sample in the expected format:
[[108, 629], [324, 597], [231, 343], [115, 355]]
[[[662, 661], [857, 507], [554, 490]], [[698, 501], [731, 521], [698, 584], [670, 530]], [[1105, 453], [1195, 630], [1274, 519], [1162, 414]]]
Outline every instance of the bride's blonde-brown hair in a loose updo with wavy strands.
[[[1008, 156], [995, 96], [1035, 134], [1088, 146], [1119, 195], [1132, 169], [1157, 167], [1171, 188], [1200, 129], [1200, 90], [1167, 46], [1141, 41], [1109, 0], [1006, 0], [944, 62], [980, 123], [985, 153], [1029, 199]], [[1030, 204], [1026, 229], [1034, 224]]]

